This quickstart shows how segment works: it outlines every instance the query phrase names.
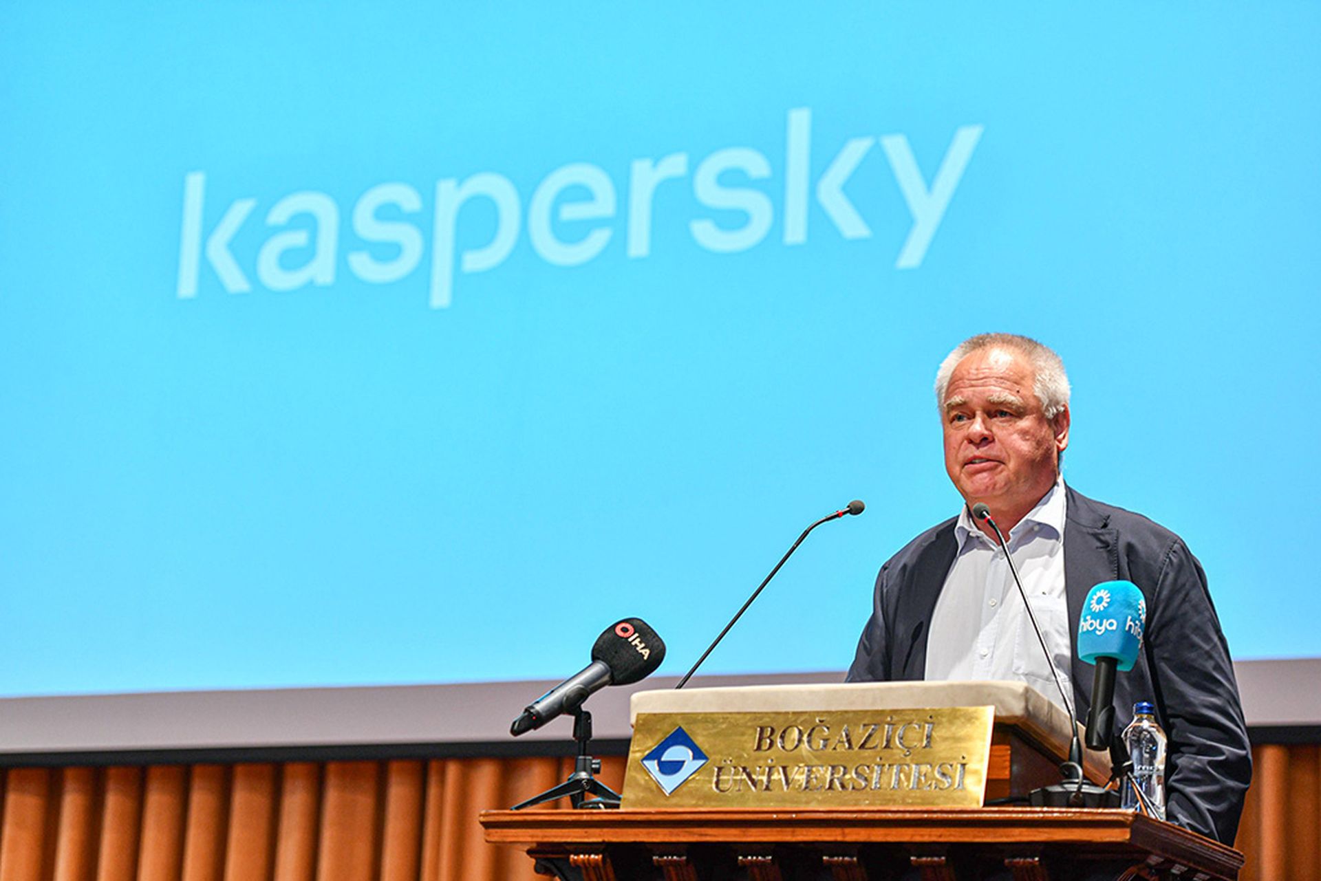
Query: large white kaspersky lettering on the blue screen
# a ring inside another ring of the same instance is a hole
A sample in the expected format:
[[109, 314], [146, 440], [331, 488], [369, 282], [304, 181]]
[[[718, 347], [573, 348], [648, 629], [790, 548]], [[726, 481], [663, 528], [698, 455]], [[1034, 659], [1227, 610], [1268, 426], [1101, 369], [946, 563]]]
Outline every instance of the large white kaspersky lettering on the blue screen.
[[[217, 283], [227, 293], [247, 293], [255, 285], [275, 292], [325, 288], [345, 271], [369, 284], [398, 284], [425, 262], [431, 308], [444, 309], [453, 302], [460, 276], [497, 269], [524, 234], [532, 251], [553, 267], [588, 263], [617, 238], [624, 239], [629, 259], [650, 258], [657, 223], [686, 225], [697, 247], [736, 254], [761, 244], [773, 230], [785, 246], [806, 243], [812, 199], [834, 234], [869, 239], [865, 217], [885, 206], [877, 205], [875, 194], [859, 206], [845, 186], [864, 161], [881, 161], [869, 159], [877, 144], [910, 217], [908, 236], [896, 243], [894, 267], [914, 269], [922, 265], [982, 129], [979, 124], [955, 127], [939, 164], [923, 162], [934, 173], [923, 174], [905, 135], [859, 135], [843, 145], [818, 144], [812, 112], [801, 107], [787, 115], [783, 169], [774, 169], [756, 148], [727, 147], [703, 157], [672, 152], [635, 159], [620, 180], [600, 165], [576, 161], [553, 169], [535, 186], [489, 170], [441, 177], [431, 188], [390, 181], [370, 186], [351, 206], [320, 190], [289, 193], [269, 207], [247, 195], [226, 194], [217, 202], [217, 190], [232, 192], [235, 184], [190, 172], [184, 177], [176, 296], [190, 300]], [[835, 151], [815, 182], [810, 177], [814, 149]], [[783, 178], [782, 190], [756, 185], [777, 176]], [[663, 195], [668, 203], [680, 201], [687, 215], [654, 217], [657, 193], [679, 188], [690, 190], [691, 199]], [[531, 197], [524, 201], [527, 189]], [[778, 205], [771, 193], [781, 197]], [[494, 210], [494, 231], [485, 242], [464, 244], [469, 242], [464, 221], [472, 222], [464, 209], [480, 203], [487, 214]], [[719, 223], [709, 217], [712, 211], [719, 213]], [[240, 235], [251, 240], [248, 230], [264, 236], [255, 254], [235, 246]]]

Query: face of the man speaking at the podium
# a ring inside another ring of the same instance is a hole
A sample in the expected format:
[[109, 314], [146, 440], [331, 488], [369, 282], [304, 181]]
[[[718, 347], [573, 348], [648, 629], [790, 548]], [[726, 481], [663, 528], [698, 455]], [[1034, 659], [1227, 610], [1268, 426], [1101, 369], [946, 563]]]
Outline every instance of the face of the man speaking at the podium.
[[1013, 522], [1055, 482], [1069, 446], [1069, 409], [1048, 420], [1034, 380], [1030, 359], [992, 347], [960, 361], [945, 391], [945, 470], [970, 505]]

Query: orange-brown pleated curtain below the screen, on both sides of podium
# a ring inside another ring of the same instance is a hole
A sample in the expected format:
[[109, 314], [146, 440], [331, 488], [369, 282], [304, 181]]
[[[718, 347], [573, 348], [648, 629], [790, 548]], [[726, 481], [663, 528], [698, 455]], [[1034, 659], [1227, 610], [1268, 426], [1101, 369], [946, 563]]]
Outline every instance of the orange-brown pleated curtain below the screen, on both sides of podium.
[[[1321, 746], [1258, 746], [1244, 881], [1321, 881]], [[624, 758], [602, 759], [618, 790]], [[0, 881], [534, 881], [477, 814], [568, 777], [572, 759], [16, 767]], [[567, 803], [561, 803], [567, 807]]]

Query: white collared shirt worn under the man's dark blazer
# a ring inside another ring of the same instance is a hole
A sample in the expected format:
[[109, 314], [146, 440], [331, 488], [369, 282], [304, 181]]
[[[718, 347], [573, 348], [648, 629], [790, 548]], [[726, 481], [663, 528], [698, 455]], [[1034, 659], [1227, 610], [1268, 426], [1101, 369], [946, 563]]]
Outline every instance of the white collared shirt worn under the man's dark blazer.
[[[1059, 689], [1022, 608], [1022, 597], [1013, 585], [1004, 552], [972, 523], [966, 505], [954, 536], [959, 549], [931, 614], [926, 678], [1013, 679], [1059, 704]], [[1059, 477], [1005, 540], [1059, 683], [1073, 703], [1063, 538], [1065, 483]]]

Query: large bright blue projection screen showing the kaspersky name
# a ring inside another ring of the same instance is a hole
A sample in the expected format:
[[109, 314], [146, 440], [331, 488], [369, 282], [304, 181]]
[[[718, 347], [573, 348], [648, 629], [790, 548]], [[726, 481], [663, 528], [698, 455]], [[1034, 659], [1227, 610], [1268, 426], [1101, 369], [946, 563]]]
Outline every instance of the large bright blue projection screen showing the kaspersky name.
[[[0, 9], [0, 695], [843, 670], [931, 383], [1321, 655], [1321, 7]], [[1304, 445], [1300, 452], [1299, 444]]]

